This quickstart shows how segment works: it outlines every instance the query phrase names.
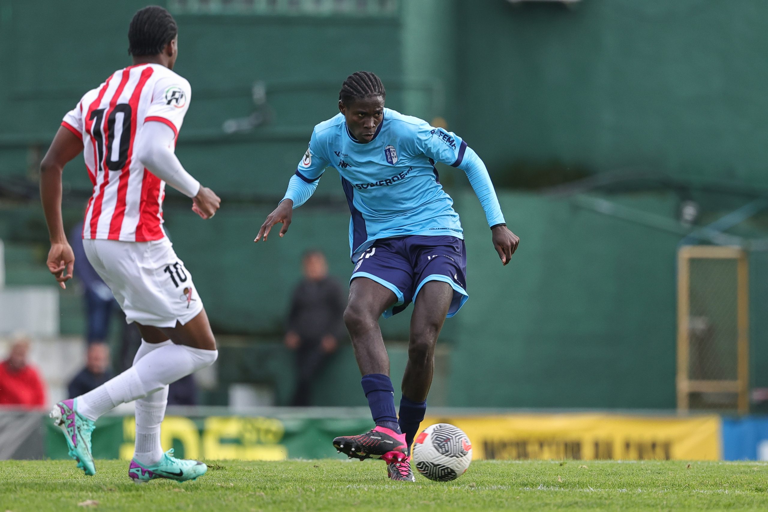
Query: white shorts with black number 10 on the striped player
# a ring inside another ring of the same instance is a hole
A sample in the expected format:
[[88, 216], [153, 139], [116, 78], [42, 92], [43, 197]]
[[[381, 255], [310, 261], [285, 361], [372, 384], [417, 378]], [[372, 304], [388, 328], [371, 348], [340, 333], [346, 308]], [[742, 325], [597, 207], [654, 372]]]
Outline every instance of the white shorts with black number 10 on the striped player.
[[176, 327], [203, 310], [192, 276], [170, 240], [83, 240], [88, 261], [112, 290], [127, 323]]

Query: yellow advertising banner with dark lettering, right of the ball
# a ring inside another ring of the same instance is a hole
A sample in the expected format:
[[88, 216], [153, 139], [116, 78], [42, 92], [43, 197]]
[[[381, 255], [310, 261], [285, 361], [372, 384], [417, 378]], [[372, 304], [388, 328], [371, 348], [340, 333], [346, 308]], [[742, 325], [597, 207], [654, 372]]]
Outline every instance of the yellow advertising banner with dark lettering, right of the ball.
[[697, 460], [721, 458], [720, 417], [607, 414], [428, 417], [472, 441], [475, 459]]

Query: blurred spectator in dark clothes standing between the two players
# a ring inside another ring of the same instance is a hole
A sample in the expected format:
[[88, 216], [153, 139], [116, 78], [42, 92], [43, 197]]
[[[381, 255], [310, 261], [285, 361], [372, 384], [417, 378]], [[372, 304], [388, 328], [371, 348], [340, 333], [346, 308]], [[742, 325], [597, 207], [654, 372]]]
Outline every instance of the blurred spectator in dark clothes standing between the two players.
[[296, 351], [296, 392], [291, 405], [310, 405], [313, 382], [344, 333], [346, 300], [338, 281], [328, 276], [326, 257], [308, 251], [304, 279], [293, 291], [285, 343]]

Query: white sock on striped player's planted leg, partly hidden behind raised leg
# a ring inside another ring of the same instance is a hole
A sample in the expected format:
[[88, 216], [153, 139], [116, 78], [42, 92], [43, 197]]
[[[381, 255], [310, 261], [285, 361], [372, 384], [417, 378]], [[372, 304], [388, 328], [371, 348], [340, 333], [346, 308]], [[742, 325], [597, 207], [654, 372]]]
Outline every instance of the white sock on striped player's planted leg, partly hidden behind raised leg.
[[[161, 346], [170, 345], [170, 340], [163, 343], [147, 343], [141, 340], [141, 346], [134, 357], [134, 365], [139, 359]], [[150, 393], [136, 401], [136, 445], [134, 459], [144, 466], [154, 466], [163, 457], [163, 446], [160, 442], [160, 425], [165, 416], [168, 404], [168, 386]]]

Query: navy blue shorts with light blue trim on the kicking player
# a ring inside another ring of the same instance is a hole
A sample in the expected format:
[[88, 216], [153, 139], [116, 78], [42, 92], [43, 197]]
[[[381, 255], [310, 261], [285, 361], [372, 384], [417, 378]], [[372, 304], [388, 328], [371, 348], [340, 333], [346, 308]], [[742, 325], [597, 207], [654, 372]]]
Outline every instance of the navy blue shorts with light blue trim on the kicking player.
[[385, 318], [405, 310], [427, 281], [443, 281], [453, 288], [452, 317], [469, 298], [466, 271], [461, 238], [411, 235], [375, 241], [357, 260], [349, 281], [368, 277], [394, 292], [397, 303], [384, 312]]

